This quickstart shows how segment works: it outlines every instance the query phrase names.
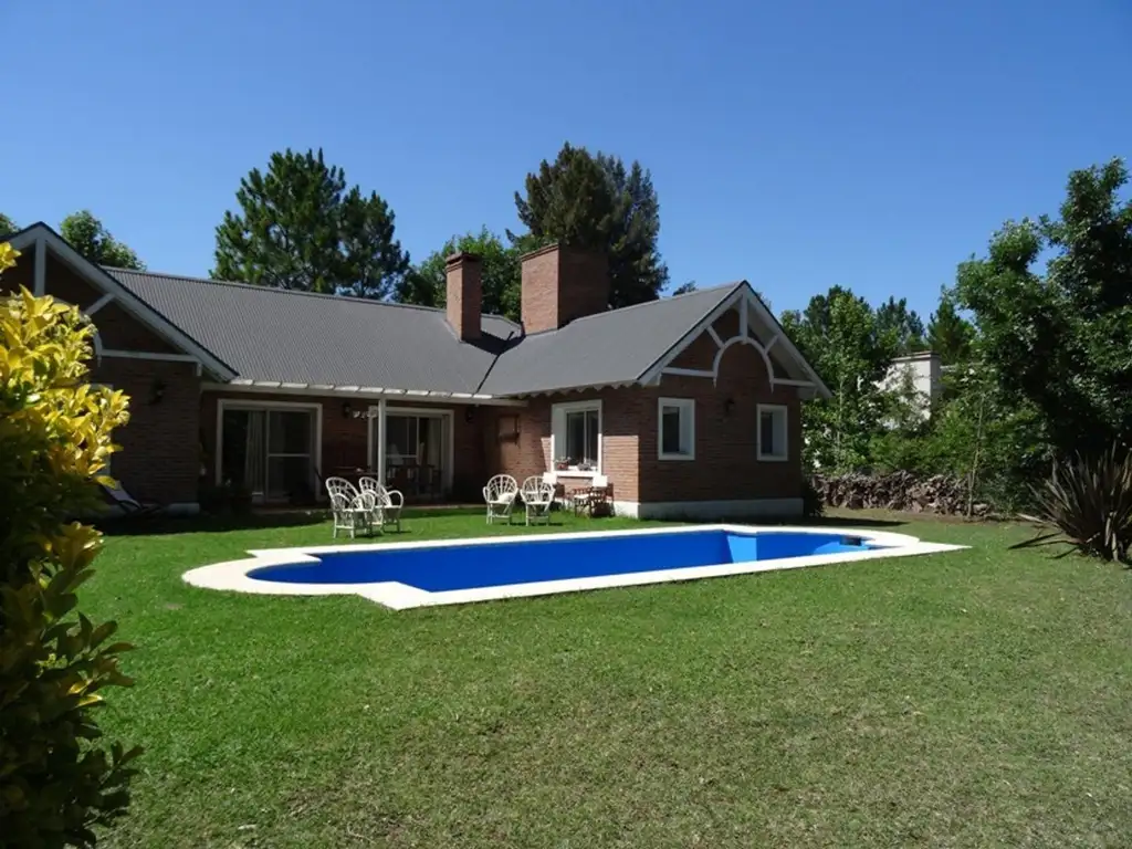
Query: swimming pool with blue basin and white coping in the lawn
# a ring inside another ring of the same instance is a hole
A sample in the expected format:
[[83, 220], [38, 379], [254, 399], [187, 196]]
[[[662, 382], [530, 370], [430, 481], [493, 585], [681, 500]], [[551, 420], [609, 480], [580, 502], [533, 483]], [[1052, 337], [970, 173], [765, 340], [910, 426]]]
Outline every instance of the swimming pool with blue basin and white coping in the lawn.
[[691, 525], [251, 551], [186, 573], [197, 586], [357, 593], [395, 609], [688, 581], [949, 551], [880, 531]]

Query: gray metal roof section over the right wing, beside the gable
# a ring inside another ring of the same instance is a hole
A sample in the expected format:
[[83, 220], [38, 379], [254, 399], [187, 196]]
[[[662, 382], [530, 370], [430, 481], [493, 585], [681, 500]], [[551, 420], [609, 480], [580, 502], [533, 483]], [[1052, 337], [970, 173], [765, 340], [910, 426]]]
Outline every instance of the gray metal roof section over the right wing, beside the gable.
[[521, 395], [636, 380], [740, 285], [599, 312], [526, 336], [499, 358], [482, 391]]

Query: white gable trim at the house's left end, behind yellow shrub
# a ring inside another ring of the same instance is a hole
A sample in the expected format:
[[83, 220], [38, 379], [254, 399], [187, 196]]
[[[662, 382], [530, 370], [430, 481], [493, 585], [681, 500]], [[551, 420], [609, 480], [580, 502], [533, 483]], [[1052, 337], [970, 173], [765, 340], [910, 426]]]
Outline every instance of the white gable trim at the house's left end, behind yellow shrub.
[[[59, 259], [85, 277], [88, 283], [93, 284], [96, 289], [102, 290], [105, 294], [112, 294], [122, 309], [166, 342], [171, 343], [174, 348], [180, 349], [187, 354], [191, 354], [204, 368], [208, 369], [209, 372], [222, 380], [231, 380], [237, 376], [235, 370], [232, 369], [231, 366], [221, 360], [212, 351], [206, 349], [195, 338], [185, 333], [185, 331], [165, 318], [165, 316], [134, 294], [129, 289], [114, 280], [114, 277], [108, 272], [103, 271], [75, 250], [75, 248], [67, 243], [66, 239], [59, 235], [59, 233], [49, 228], [46, 224], [42, 222], [33, 224], [26, 230], [17, 233], [10, 241], [11, 247], [17, 250], [22, 247], [27, 247], [28, 245], [34, 243], [36, 258], [35, 293], [37, 295], [46, 293], [45, 259], [46, 248], [50, 247], [52, 252]], [[43, 291], [41, 291], [41, 286]], [[105, 306], [102, 302], [102, 299], [95, 301], [95, 303], [100, 308]]]

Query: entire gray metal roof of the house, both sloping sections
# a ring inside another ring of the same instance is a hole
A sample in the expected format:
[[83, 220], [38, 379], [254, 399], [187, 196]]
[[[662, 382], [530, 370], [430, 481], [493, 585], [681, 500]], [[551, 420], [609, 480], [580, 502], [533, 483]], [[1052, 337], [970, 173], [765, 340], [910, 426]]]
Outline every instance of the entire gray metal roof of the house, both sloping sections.
[[636, 380], [737, 286], [704, 289], [523, 336], [483, 316], [461, 342], [445, 311], [106, 268], [242, 380], [522, 395]]

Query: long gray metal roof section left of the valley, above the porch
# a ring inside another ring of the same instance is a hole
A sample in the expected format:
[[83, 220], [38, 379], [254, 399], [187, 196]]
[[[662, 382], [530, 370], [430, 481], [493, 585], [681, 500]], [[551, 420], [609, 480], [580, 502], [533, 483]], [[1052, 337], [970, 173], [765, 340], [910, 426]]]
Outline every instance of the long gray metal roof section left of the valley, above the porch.
[[462, 343], [444, 310], [149, 272], [111, 275], [242, 379], [475, 392], [517, 325], [484, 316]]

